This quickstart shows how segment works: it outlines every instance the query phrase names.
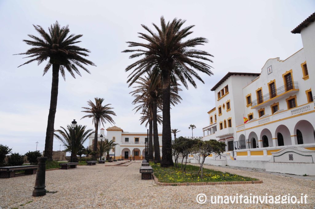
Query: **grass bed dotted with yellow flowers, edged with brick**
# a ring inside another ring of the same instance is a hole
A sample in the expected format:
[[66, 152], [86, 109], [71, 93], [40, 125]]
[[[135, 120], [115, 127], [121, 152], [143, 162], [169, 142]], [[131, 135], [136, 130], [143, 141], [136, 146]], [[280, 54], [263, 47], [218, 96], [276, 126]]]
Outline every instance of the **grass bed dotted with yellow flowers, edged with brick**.
[[187, 183], [187, 182], [225, 182], [225, 181], [257, 181], [256, 178], [249, 178], [231, 174], [228, 172], [221, 172], [203, 168], [203, 178], [197, 175], [199, 167], [187, 165], [186, 172], [180, 168], [168, 167], [163, 168], [160, 164], [150, 163], [153, 168], [154, 175], [159, 182], [163, 183]]

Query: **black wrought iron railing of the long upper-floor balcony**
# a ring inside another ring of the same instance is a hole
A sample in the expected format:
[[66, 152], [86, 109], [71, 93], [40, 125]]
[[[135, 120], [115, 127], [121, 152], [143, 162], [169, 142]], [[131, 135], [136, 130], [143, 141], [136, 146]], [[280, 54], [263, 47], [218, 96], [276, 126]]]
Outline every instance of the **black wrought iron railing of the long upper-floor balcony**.
[[279, 88], [271, 91], [268, 94], [263, 95], [262, 97], [260, 97], [256, 100], [252, 101], [252, 107], [255, 107], [255, 106], [257, 106], [263, 102], [266, 102], [266, 101], [268, 101], [268, 100], [270, 100], [270, 99], [272, 99], [272, 98], [274, 98], [280, 94], [283, 94], [283, 93], [285, 93], [291, 89], [299, 89], [297, 82], [291, 82], [289, 84], [286, 84], [282, 87], [279, 87]]

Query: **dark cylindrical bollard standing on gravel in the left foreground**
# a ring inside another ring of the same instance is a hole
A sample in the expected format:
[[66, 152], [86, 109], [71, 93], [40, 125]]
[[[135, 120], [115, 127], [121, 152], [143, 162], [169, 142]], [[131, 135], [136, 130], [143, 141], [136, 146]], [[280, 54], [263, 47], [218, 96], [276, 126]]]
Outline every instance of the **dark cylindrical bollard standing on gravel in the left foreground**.
[[46, 161], [47, 157], [37, 157], [38, 167], [36, 173], [35, 186], [33, 190], [33, 196], [39, 197], [46, 195], [45, 189], [45, 173], [46, 173]]

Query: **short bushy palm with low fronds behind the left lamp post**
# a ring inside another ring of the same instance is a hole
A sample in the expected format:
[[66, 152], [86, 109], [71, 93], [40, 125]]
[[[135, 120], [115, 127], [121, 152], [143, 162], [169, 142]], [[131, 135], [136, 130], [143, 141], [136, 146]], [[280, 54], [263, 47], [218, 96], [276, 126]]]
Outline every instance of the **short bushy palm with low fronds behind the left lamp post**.
[[[82, 148], [83, 143], [94, 133], [93, 129], [85, 130], [86, 126], [77, 125], [73, 130], [71, 125], [66, 128], [60, 126], [61, 129], [54, 131], [54, 136], [58, 138], [66, 147], [66, 152], [72, 152], [71, 156], [74, 162], [78, 162], [77, 152]], [[73, 149], [72, 149], [73, 144]]]

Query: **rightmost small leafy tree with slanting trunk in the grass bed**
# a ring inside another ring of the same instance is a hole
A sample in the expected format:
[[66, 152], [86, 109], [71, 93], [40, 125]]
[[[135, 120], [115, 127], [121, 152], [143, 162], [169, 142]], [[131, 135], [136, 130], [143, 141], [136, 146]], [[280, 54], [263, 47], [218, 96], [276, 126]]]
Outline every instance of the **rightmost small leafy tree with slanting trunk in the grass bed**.
[[215, 139], [210, 139], [209, 141], [201, 141], [200, 139], [196, 139], [196, 144], [192, 147], [191, 152], [200, 165], [198, 170], [198, 175], [201, 172], [200, 177], [203, 177], [203, 163], [206, 157], [212, 153], [223, 153], [225, 151], [225, 146], [225, 143], [218, 142]]

